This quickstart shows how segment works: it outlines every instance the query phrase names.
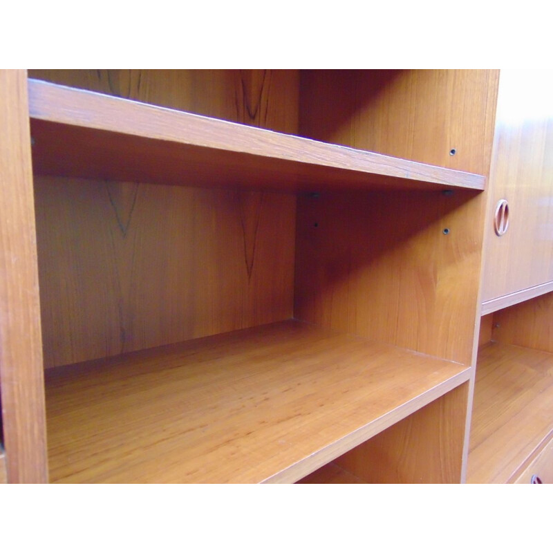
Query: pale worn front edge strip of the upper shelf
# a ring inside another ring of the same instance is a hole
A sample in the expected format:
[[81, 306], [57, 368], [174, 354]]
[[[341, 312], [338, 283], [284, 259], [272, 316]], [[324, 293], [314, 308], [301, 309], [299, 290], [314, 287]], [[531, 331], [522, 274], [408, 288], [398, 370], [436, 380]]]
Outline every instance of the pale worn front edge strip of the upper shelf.
[[[31, 119], [120, 133], [189, 147], [258, 156], [307, 166], [343, 169], [369, 178], [430, 183], [481, 191], [485, 176], [326, 144], [234, 122], [28, 79]], [[59, 137], [56, 137], [57, 139]], [[347, 179], [346, 179], [347, 182]], [[347, 187], [342, 183], [342, 188]]]

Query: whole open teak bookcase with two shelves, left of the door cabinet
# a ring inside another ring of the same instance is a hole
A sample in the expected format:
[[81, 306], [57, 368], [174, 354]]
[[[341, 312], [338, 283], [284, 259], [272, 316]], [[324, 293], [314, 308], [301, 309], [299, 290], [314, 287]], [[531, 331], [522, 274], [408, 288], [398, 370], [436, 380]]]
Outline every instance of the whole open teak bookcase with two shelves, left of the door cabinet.
[[0, 74], [9, 482], [465, 481], [497, 71]]

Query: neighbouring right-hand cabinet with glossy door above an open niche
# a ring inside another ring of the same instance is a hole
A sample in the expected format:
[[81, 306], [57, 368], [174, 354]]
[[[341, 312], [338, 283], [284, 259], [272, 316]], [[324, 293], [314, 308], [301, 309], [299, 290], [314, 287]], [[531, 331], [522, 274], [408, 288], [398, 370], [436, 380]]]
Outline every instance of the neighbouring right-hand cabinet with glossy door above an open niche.
[[[533, 469], [550, 481], [552, 89], [548, 72], [501, 71], [469, 482], [529, 483]], [[509, 202], [509, 227], [496, 236], [492, 220], [500, 199]]]

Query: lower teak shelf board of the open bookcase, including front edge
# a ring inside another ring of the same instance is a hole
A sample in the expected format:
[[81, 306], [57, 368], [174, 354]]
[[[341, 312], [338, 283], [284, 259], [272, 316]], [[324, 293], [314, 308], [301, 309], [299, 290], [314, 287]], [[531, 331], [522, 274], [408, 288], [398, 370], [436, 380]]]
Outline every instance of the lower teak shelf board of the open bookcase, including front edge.
[[469, 373], [294, 320], [50, 369], [50, 481], [295, 482]]

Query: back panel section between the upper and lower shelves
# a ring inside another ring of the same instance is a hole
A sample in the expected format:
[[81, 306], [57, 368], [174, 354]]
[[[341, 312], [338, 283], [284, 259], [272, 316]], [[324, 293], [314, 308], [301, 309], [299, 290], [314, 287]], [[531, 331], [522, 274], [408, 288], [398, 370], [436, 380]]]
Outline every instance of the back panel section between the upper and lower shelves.
[[45, 366], [292, 317], [295, 196], [35, 177]]

